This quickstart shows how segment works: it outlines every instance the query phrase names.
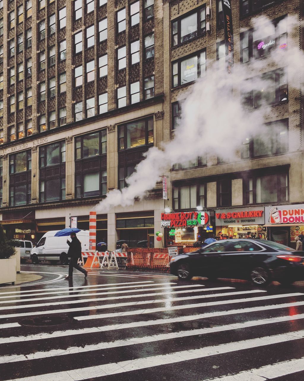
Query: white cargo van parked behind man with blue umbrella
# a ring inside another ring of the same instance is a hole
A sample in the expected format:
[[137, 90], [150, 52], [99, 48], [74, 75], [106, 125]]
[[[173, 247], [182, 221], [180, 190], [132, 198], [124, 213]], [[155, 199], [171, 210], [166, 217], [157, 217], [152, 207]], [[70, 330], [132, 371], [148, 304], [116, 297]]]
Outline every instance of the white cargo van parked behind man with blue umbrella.
[[[71, 241], [71, 238], [70, 236], [55, 237], [57, 232], [58, 230], [52, 230], [43, 235], [31, 251], [32, 263], [51, 261], [51, 263], [56, 264], [60, 261], [61, 264], [68, 264], [69, 245], [67, 239]], [[81, 251], [89, 251], [89, 231], [81, 230], [76, 236], [81, 242]]]

